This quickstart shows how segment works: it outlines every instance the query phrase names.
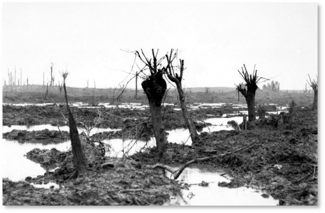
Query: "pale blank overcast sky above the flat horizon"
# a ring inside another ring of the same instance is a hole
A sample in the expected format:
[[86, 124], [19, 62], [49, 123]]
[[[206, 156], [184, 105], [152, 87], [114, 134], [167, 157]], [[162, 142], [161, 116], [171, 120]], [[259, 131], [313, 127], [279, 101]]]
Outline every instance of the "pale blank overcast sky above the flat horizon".
[[89, 79], [93, 87], [95, 79], [97, 88], [118, 87], [134, 62], [122, 50], [141, 48], [178, 48], [185, 87], [234, 87], [245, 63], [281, 90], [302, 90], [307, 74], [315, 78], [318, 71], [317, 3], [4, 3], [2, 9], [6, 81], [16, 66], [17, 79], [21, 68], [23, 81], [42, 84], [45, 72], [47, 82], [52, 61], [56, 83], [68, 65], [68, 86], [85, 87]]

